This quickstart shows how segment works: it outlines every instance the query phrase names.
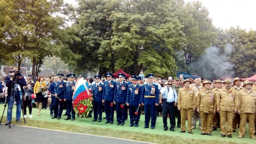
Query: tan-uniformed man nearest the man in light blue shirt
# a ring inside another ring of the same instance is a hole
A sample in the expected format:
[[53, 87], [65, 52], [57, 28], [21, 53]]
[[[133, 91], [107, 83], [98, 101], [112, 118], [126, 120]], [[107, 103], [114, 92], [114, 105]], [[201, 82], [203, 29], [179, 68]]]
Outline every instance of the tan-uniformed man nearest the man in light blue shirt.
[[196, 93], [193, 88], [189, 87], [192, 82], [188, 79], [184, 80], [183, 88], [180, 88], [178, 94], [178, 110], [181, 110], [181, 131], [186, 132], [186, 115], [188, 117], [188, 133], [192, 132], [192, 112], [196, 110]]

